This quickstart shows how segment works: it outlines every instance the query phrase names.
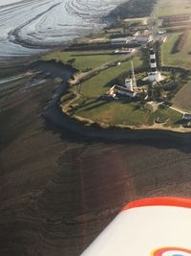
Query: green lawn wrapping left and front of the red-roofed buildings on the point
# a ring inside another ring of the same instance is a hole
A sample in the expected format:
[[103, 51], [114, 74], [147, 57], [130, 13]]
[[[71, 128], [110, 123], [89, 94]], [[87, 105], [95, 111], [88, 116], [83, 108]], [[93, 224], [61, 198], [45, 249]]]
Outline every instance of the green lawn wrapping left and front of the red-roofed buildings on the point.
[[[140, 58], [134, 58], [134, 64], [135, 67], [140, 66], [142, 64]], [[73, 113], [107, 125], [152, 126], [159, 118], [161, 122], [166, 123], [165, 126], [176, 127], [181, 114], [170, 108], [159, 108], [153, 112], [151, 106], [141, 108], [138, 102], [104, 101], [99, 98], [112, 85], [110, 81], [114, 81], [130, 68], [131, 61], [126, 61], [120, 66], [111, 67], [92, 79], [84, 81], [81, 84], [81, 97], [74, 102]]]

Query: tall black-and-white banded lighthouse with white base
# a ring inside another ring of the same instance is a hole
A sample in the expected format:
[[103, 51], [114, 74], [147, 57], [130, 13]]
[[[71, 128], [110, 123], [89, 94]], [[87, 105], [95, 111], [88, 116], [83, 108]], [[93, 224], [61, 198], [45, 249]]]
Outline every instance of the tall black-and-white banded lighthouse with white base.
[[150, 67], [151, 67], [151, 72], [148, 73], [148, 80], [161, 81], [161, 74], [157, 68], [156, 55], [153, 48], [150, 48]]

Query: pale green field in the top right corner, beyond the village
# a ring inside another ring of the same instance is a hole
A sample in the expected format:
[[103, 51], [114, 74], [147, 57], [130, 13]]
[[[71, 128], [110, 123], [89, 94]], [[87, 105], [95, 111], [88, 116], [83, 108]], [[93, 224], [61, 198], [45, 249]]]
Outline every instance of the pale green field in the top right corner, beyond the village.
[[158, 16], [191, 13], [190, 0], [159, 0]]

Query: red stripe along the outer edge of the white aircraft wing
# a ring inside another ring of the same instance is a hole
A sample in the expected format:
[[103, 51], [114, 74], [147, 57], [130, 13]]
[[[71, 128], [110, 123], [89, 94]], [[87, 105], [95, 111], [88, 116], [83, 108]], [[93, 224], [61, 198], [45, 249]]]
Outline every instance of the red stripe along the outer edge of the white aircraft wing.
[[177, 206], [191, 208], [191, 198], [145, 198], [128, 203], [122, 211], [144, 206]]

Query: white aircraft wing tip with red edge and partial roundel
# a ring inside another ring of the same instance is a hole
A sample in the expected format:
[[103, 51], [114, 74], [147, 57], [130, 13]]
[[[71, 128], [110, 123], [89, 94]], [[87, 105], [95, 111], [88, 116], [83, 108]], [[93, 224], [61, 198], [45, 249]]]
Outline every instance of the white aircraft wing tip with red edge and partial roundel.
[[191, 199], [127, 204], [81, 256], [191, 256]]

